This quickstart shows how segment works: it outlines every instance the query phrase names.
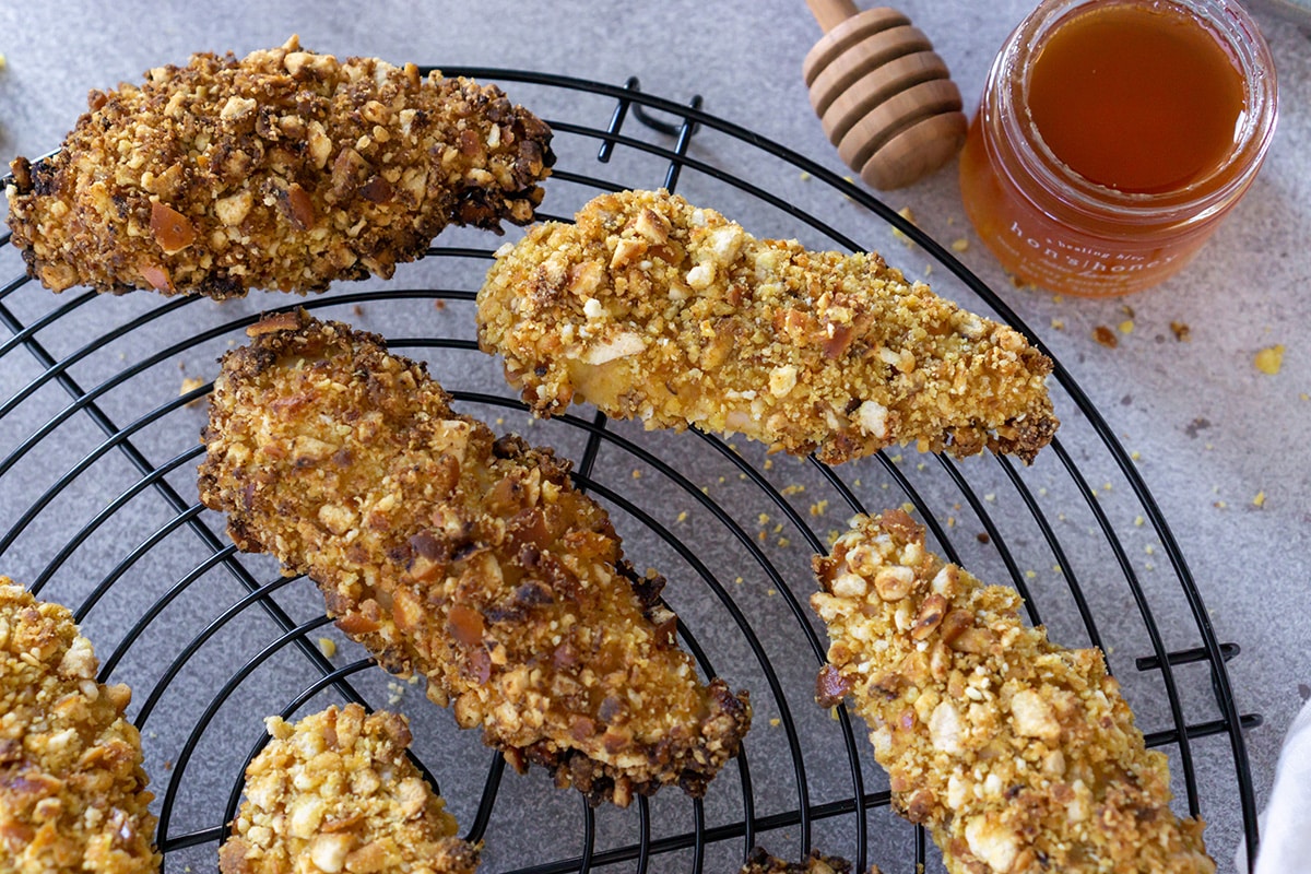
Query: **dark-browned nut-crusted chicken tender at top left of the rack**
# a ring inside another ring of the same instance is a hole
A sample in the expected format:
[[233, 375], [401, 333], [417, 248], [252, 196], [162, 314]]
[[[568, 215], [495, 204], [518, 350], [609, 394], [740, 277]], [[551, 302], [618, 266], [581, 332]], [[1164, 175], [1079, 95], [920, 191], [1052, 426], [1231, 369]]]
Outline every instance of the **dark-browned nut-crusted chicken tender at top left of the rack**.
[[391, 276], [448, 224], [526, 224], [551, 130], [499, 89], [281, 48], [194, 55], [93, 90], [51, 157], [12, 164], [9, 227], [54, 291], [237, 297]]

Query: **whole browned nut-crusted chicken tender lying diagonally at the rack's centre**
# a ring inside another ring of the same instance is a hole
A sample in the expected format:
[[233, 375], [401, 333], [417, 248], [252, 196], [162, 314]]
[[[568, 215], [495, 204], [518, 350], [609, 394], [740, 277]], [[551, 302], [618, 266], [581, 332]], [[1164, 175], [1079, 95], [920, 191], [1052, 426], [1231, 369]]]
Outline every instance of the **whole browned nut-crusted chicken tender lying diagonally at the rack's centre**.
[[696, 676], [569, 464], [451, 411], [422, 364], [302, 313], [254, 325], [215, 380], [201, 499], [237, 546], [323, 590], [338, 626], [518, 769], [593, 803], [734, 755], [747, 694]]

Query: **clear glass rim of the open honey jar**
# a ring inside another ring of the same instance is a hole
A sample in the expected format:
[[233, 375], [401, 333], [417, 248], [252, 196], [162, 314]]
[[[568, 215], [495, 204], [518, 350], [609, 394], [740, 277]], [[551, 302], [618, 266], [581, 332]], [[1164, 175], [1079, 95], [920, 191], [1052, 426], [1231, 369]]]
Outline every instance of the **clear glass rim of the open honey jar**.
[[[1245, 109], [1228, 159], [1175, 190], [1122, 191], [1092, 182], [1055, 156], [1028, 111], [1032, 75], [1028, 62], [1033, 50], [1074, 16], [1116, 5], [1172, 7], [1190, 13], [1224, 45], [1243, 76]], [[1016, 160], [1065, 208], [1109, 221], [1196, 223], [1223, 210], [1256, 176], [1278, 118], [1278, 85], [1270, 50], [1260, 28], [1234, 0], [1151, 0], [1147, 4], [1141, 0], [1045, 0], [1007, 39], [988, 72], [987, 90], [995, 106], [994, 118], [985, 121], [1000, 126], [1004, 142], [1012, 144], [1007, 157]], [[1023, 148], [1016, 148], [1017, 144]], [[1243, 170], [1230, 176], [1235, 164]]]

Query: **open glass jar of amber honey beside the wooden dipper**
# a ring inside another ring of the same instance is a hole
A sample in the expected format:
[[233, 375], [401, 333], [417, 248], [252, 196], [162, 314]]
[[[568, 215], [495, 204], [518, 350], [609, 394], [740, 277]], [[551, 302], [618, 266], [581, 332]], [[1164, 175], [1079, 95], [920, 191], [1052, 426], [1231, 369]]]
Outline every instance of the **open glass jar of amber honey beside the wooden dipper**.
[[1141, 291], [1247, 191], [1276, 117], [1269, 48], [1234, 0], [1045, 0], [988, 72], [965, 211], [1023, 283]]

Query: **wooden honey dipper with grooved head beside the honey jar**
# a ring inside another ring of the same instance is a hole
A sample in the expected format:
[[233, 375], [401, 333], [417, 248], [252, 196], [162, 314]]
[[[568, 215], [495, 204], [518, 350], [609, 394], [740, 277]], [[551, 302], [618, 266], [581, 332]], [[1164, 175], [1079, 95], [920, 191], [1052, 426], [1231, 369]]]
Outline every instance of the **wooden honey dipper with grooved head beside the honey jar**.
[[825, 35], [801, 66], [810, 105], [843, 162], [868, 185], [899, 189], [965, 143], [961, 92], [928, 38], [895, 9], [806, 0]]

